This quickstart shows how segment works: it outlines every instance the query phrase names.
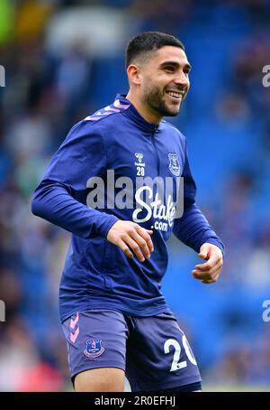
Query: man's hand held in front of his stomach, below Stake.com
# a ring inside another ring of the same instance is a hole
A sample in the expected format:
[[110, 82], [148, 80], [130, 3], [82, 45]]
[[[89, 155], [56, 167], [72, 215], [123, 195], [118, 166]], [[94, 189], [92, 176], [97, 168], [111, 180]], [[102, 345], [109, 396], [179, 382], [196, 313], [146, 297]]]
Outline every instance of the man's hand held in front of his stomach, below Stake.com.
[[123, 253], [128, 257], [133, 257], [132, 251], [138, 257], [140, 262], [148, 259], [150, 253], [154, 251], [154, 246], [150, 235], [152, 230], [140, 227], [137, 223], [130, 220], [118, 220], [112, 225], [107, 234], [107, 239], [112, 244], [121, 248]]

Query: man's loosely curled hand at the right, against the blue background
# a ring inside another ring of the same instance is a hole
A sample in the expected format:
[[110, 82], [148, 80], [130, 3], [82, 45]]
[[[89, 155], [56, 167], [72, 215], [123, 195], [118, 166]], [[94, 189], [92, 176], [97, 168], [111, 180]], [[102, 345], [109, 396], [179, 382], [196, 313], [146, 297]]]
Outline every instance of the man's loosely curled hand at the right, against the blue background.
[[196, 265], [192, 274], [195, 279], [202, 281], [202, 284], [213, 284], [219, 279], [223, 255], [219, 247], [205, 242], [200, 248], [198, 254], [202, 259], [207, 259], [202, 265]]

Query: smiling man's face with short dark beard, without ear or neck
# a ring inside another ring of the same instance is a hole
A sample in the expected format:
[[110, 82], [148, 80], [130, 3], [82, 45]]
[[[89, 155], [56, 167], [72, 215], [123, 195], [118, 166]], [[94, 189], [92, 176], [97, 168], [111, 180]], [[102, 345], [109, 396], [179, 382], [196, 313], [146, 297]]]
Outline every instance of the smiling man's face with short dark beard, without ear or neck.
[[141, 68], [141, 98], [160, 116], [177, 116], [190, 82], [191, 66], [179, 47], [165, 46]]

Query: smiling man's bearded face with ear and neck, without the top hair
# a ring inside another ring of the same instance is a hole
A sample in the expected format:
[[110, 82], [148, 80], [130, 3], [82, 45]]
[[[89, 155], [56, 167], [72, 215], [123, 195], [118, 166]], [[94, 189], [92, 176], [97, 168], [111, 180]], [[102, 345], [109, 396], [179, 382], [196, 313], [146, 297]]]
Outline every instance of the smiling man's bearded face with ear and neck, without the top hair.
[[130, 46], [126, 61], [130, 80], [127, 98], [150, 123], [158, 124], [163, 116], [177, 116], [190, 87], [191, 65], [180, 44], [152, 51], [139, 51], [139, 44], [138, 49]]

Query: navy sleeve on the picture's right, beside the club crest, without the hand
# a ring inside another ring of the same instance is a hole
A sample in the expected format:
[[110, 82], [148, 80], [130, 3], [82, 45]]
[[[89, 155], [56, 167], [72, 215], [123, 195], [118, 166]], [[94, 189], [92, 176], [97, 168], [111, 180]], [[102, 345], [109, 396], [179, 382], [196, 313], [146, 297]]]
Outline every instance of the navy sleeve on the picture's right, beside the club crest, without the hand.
[[175, 219], [175, 237], [196, 252], [200, 251], [203, 243], [209, 242], [220, 247], [224, 254], [223, 243], [195, 203], [196, 185], [190, 170], [186, 147], [182, 176], [184, 177], [184, 213], [181, 218]]

